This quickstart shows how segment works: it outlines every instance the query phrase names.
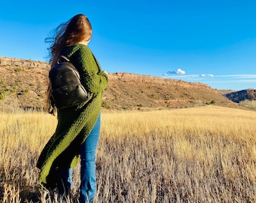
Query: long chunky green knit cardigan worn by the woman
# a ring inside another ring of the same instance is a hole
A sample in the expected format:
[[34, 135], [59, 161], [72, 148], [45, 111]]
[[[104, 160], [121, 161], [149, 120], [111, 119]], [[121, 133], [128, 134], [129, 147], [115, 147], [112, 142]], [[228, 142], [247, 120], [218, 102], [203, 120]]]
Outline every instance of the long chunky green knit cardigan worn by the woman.
[[99, 117], [102, 92], [108, 86], [108, 75], [102, 71], [90, 48], [75, 44], [62, 52], [81, 74], [81, 83], [91, 92], [88, 102], [58, 109], [56, 132], [38, 158], [39, 180], [47, 188], [56, 187], [58, 168], [73, 168], [78, 164], [80, 145], [86, 140]]

